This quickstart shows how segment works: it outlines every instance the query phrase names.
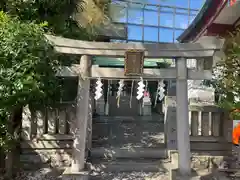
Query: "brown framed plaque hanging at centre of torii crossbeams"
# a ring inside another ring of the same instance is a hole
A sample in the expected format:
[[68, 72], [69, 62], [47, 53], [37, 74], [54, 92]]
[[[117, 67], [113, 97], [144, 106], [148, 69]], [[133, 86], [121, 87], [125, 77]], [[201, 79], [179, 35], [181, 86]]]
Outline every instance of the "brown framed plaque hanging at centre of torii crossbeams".
[[140, 76], [143, 74], [144, 51], [128, 50], [125, 53], [124, 75]]

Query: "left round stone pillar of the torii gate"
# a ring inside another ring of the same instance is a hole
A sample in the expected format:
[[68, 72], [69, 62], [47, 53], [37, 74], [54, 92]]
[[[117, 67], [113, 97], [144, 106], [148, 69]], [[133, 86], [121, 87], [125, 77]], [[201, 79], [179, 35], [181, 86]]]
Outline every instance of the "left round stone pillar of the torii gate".
[[80, 70], [78, 80], [78, 94], [76, 104], [76, 122], [74, 123], [73, 132], [73, 154], [72, 154], [72, 172], [80, 172], [85, 165], [85, 149], [87, 139], [87, 127], [89, 118], [89, 91], [91, 57], [83, 55], [80, 60]]

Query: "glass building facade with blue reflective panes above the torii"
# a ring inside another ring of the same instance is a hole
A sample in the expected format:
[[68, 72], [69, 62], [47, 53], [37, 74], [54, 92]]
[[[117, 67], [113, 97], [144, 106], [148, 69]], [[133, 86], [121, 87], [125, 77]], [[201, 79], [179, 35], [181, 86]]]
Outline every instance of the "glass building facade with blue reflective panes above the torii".
[[[140, 1], [140, 0], [138, 0]], [[189, 0], [143, 0], [150, 4], [161, 4], [163, 6], [176, 6], [188, 8]], [[160, 19], [158, 18], [158, 8], [156, 6], [145, 6], [146, 9], [152, 11], [141, 10], [142, 5], [132, 5], [128, 10], [128, 39], [139, 41], [153, 41], [153, 42], [173, 42], [176, 38], [188, 27], [188, 25], [195, 18], [198, 10], [201, 9], [205, 0], [190, 0], [190, 8], [196, 9], [190, 12], [185, 9], [176, 9], [175, 18], [173, 16], [173, 8], [162, 7]], [[122, 10], [126, 14], [126, 9]], [[144, 18], [143, 18], [144, 13]], [[185, 13], [178, 14], [178, 13]], [[160, 20], [160, 22], [158, 22]], [[126, 16], [122, 16], [117, 20], [118, 22], [126, 23]], [[144, 28], [141, 24], [144, 23]], [[160, 25], [160, 28], [154, 27]], [[174, 29], [173, 29], [174, 28]]]

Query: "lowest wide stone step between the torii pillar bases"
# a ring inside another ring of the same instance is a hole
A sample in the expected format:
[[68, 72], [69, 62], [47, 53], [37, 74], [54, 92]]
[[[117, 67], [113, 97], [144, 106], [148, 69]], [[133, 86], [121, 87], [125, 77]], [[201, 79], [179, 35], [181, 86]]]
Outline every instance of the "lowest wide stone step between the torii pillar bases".
[[87, 164], [92, 173], [103, 172], [168, 172], [170, 163], [163, 160], [118, 160], [103, 161], [95, 159]]

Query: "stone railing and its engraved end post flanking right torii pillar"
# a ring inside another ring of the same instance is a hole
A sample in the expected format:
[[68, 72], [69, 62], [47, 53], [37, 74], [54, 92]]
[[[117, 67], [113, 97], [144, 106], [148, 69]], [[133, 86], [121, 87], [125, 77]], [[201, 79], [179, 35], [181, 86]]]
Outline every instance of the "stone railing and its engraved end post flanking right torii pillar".
[[[165, 103], [165, 136], [168, 150], [177, 149], [175, 97]], [[228, 151], [231, 149], [232, 121], [215, 105], [189, 105], [189, 135], [192, 151]]]

